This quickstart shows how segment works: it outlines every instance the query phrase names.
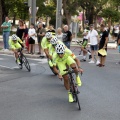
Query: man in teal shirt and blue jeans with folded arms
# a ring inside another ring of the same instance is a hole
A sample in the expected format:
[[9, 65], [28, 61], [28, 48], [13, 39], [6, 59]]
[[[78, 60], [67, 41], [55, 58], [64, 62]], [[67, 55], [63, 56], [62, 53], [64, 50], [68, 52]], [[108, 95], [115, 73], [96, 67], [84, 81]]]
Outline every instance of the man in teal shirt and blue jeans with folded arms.
[[4, 42], [4, 49], [5, 51], [8, 51], [9, 49], [9, 35], [10, 35], [10, 29], [11, 29], [11, 23], [9, 22], [9, 17], [5, 17], [5, 22], [1, 25], [1, 28], [3, 28], [3, 42]]

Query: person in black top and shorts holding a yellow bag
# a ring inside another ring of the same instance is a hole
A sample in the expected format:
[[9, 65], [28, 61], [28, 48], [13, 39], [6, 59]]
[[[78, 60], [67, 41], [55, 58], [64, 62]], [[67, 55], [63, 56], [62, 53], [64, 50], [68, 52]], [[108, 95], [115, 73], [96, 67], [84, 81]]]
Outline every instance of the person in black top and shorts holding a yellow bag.
[[[100, 39], [100, 42], [99, 42], [99, 50], [105, 49], [105, 51], [107, 52], [107, 42], [108, 42], [108, 34], [109, 33], [108, 33], [108, 31], [105, 30], [105, 25], [104, 24], [101, 24], [100, 30], [101, 30], [101, 39]], [[100, 57], [100, 63], [98, 64], [98, 66], [99, 67], [104, 67], [106, 56], [103, 56], [100, 53], [98, 53], [98, 56]]]

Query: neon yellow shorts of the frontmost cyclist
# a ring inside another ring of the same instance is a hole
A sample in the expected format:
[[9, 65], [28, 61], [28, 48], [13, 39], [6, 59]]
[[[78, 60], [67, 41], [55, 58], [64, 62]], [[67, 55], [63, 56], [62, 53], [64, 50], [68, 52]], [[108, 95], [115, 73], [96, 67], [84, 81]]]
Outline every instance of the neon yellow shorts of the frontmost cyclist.
[[67, 66], [70, 66], [73, 63], [75, 63], [75, 61], [71, 56], [69, 56], [67, 59], [65, 59], [62, 62], [57, 62], [57, 66], [58, 66], [60, 74], [65, 75], [67, 71], [64, 71], [64, 70], [67, 69]]

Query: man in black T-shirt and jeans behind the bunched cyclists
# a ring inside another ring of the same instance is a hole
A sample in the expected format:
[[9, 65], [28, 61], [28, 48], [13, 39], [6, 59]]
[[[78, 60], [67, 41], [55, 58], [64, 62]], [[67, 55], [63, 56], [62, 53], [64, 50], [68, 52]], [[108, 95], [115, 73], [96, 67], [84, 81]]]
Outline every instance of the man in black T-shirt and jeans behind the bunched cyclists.
[[72, 41], [72, 33], [68, 30], [68, 25], [63, 27], [63, 43], [70, 49], [70, 43]]

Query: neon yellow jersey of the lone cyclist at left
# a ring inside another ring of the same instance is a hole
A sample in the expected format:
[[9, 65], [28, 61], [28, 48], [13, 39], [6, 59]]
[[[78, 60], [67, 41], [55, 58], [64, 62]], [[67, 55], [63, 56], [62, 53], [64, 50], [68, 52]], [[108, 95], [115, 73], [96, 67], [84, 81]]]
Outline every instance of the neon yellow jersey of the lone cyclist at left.
[[9, 45], [10, 45], [10, 48], [12, 49], [22, 48], [21, 44], [23, 44], [23, 42], [19, 37], [17, 37], [17, 42], [14, 42], [11, 38], [9, 39]]

